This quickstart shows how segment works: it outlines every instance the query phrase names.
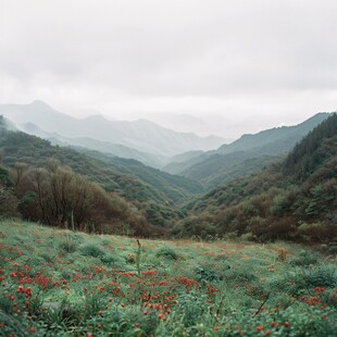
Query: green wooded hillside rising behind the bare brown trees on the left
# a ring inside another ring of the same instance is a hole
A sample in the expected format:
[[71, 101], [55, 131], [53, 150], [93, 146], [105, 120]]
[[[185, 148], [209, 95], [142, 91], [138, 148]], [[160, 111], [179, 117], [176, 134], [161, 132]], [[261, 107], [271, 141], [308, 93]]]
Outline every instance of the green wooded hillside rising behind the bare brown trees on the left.
[[202, 191], [198, 183], [161, 173], [137, 161], [109, 158], [99, 152], [85, 155], [74, 149], [51, 146], [35, 136], [8, 132], [4, 127], [0, 132], [0, 151], [2, 165], [14, 167], [14, 171], [17, 165], [46, 167], [48, 160], [53, 158], [108, 192], [125, 198], [150, 224], [167, 230], [179, 217], [176, 204]]

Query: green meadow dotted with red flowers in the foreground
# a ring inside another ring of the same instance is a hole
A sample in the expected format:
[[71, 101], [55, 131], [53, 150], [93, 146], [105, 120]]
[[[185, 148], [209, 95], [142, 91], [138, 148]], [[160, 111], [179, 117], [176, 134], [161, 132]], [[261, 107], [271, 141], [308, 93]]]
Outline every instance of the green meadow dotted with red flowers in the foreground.
[[0, 223], [0, 336], [334, 336], [336, 260]]

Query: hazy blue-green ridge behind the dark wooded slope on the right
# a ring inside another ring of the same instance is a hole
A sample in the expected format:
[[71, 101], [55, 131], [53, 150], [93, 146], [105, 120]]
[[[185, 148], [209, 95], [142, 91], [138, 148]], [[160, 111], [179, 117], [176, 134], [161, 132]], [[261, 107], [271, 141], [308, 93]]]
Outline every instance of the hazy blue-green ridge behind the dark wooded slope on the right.
[[213, 188], [228, 179], [253, 173], [290, 151], [329, 113], [317, 113], [295, 126], [283, 126], [244, 135], [238, 140], [221, 146], [186, 161], [171, 163], [163, 170], [204, 183]]

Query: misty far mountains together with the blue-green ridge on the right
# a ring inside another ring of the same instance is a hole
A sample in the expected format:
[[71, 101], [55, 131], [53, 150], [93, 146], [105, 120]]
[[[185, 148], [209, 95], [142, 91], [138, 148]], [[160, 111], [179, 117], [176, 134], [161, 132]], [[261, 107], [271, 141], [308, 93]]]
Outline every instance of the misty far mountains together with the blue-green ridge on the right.
[[329, 113], [317, 113], [298, 125], [242, 135], [226, 145], [219, 137], [177, 133], [145, 120], [116, 122], [101, 115], [78, 120], [41, 101], [2, 104], [0, 114], [18, 129], [48, 139], [52, 145], [95, 153], [96, 158], [102, 155], [95, 152], [99, 151], [109, 161], [112, 158], [136, 160], [171, 175], [197, 180], [205, 189], [249, 175], [279, 160], [329, 116]]

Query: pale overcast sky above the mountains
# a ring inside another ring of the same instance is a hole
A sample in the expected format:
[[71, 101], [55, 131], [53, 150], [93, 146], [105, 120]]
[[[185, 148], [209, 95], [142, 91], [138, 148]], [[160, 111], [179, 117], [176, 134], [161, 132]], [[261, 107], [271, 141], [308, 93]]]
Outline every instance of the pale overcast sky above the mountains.
[[0, 0], [0, 103], [235, 138], [337, 109], [336, 0]]

